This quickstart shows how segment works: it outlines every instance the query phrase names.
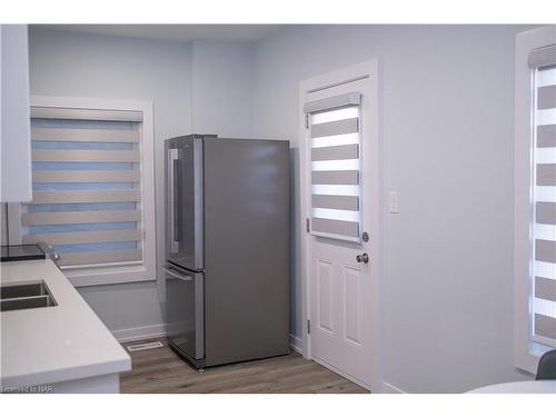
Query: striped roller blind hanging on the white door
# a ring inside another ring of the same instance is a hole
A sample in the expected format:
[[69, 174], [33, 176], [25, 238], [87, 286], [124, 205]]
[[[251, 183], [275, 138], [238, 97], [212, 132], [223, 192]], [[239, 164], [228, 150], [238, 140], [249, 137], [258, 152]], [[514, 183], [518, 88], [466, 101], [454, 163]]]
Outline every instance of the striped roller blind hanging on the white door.
[[305, 106], [311, 159], [311, 228], [316, 236], [359, 241], [359, 92]]

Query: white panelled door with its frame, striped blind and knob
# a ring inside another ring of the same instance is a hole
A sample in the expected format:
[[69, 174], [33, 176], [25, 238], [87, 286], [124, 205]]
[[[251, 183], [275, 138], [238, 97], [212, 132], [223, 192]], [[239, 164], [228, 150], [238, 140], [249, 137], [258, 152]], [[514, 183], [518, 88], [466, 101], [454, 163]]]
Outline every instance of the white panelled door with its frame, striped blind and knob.
[[304, 267], [309, 356], [380, 389], [377, 66], [301, 83]]

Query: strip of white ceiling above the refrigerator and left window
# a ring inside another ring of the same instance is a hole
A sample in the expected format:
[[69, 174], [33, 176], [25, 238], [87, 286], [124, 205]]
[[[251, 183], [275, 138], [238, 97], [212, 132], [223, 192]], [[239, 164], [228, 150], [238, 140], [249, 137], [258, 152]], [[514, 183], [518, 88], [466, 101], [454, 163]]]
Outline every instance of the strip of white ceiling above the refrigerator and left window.
[[256, 42], [284, 24], [33, 24], [38, 28], [180, 42], [215, 40]]

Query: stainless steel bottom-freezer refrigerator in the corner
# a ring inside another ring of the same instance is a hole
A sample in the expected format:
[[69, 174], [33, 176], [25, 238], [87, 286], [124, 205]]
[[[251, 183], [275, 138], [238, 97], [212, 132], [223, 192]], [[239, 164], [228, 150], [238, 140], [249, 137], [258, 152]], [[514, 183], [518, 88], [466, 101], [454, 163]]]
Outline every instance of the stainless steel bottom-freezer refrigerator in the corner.
[[289, 353], [289, 142], [165, 141], [169, 346], [197, 368]]

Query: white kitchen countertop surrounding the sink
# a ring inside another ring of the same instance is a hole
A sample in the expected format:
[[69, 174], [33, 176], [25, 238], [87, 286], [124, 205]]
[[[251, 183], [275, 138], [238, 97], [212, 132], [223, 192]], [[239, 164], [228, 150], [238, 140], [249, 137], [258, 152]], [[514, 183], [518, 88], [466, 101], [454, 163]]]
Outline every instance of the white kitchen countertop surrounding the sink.
[[44, 280], [57, 306], [0, 312], [1, 385], [48, 385], [131, 369], [131, 358], [50, 259], [2, 262], [2, 285]]

